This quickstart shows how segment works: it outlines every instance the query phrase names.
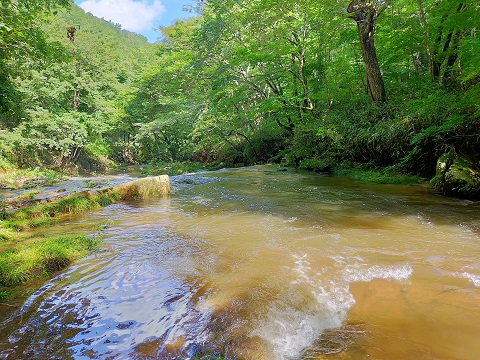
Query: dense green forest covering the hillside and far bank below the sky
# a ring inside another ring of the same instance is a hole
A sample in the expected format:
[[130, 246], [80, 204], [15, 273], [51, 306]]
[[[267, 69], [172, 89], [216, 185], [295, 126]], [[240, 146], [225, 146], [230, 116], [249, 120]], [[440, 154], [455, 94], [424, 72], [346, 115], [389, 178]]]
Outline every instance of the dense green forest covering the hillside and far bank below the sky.
[[0, 168], [279, 163], [416, 175], [457, 195], [443, 162], [478, 197], [479, 8], [199, 0], [150, 44], [70, 0], [2, 1]]

